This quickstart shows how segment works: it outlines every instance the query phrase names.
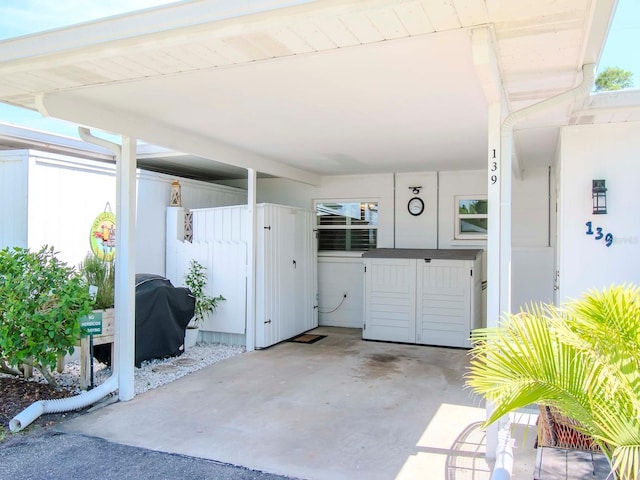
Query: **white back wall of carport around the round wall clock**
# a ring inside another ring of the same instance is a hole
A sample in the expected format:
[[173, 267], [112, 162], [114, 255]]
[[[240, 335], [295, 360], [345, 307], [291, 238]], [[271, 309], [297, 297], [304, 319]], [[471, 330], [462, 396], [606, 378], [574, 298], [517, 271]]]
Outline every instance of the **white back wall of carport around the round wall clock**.
[[[424, 200], [425, 211], [418, 217], [407, 210], [407, 202], [414, 196], [410, 186], [423, 187], [417, 196]], [[485, 249], [486, 241], [453, 237], [454, 197], [486, 195], [486, 192], [486, 172], [479, 170], [416, 172], [396, 174], [395, 178], [392, 174], [323, 177], [319, 187], [266, 178], [258, 181], [257, 196], [259, 202], [303, 208], [313, 208], [314, 200], [377, 200], [378, 247]], [[532, 301], [553, 299], [554, 249], [553, 243], [549, 246], [549, 201], [548, 167], [531, 169], [524, 172], [520, 180], [514, 180], [512, 263], [516, 276], [512, 296], [515, 310]], [[553, 213], [551, 215], [553, 217]], [[483, 260], [486, 261], [486, 256]], [[318, 291], [320, 324], [362, 325], [363, 266], [359, 254], [321, 253]], [[340, 308], [323, 313], [339, 304], [343, 292], [348, 295]]]

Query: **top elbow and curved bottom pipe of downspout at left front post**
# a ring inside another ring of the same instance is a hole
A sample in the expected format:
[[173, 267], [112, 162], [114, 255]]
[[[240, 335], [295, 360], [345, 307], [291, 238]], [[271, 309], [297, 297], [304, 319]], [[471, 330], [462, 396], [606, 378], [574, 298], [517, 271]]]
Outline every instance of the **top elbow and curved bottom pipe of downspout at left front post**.
[[[122, 152], [120, 145], [94, 137], [88, 128], [78, 127], [78, 134], [85, 142], [104, 147], [113, 151], [116, 158], [120, 157]], [[118, 390], [118, 362], [113, 362], [113, 371], [111, 376], [101, 385], [97, 386], [93, 390], [76, 395], [75, 397], [56, 400], [39, 400], [32, 403], [9, 421], [9, 430], [12, 432], [19, 432], [23, 428], [29, 426], [40, 415], [45, 413], [62, 413], [79, 410], [98, 402], [116, 390]]]

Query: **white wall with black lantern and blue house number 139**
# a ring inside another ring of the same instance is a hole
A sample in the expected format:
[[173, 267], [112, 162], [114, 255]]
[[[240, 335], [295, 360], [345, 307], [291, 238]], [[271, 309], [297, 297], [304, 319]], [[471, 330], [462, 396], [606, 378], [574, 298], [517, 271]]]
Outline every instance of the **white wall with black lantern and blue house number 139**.
[[[560, 302], [611, 284], [640, 284], [640, 122], [565, 127], [558, 203]], [[591, 181], [606, 180], [606, 215], [593, 215]], [[587, 235], [592, 222], [594, 235]], [[613, 234], [606, 247], [595, 229]]]

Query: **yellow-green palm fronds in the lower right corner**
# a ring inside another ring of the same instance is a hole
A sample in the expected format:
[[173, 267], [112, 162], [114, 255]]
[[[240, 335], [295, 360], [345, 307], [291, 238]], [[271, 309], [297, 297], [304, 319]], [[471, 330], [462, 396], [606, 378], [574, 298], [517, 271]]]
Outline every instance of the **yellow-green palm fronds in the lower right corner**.
[[590, 291], [474, 333], [467, 384], [496, 409], [537, 403], [573, 420], [620, 480], [640, 473], [640, 289]]

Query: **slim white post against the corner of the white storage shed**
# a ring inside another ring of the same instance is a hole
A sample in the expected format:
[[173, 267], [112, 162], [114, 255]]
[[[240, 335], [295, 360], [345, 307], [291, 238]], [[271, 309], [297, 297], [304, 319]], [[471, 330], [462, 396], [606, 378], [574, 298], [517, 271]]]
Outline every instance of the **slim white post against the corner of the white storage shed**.
[[256, 348], [256, 171], [247, 169], [247, 207], [249, 210], [249, 235], [247, 245], [247, 351]]

